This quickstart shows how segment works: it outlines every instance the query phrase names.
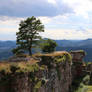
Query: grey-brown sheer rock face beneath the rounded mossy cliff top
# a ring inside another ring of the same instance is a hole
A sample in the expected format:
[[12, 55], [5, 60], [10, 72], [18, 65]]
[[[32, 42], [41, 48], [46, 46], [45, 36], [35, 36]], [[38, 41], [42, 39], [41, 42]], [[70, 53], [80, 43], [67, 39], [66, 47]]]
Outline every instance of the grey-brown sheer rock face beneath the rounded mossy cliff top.
[[[51, 67], [43, 74], [47, 82], [42, 85], [38, 92], [69, 92], [71, 85], [71, 63], [66, 57], [66, 60], [61, 60], [59, 63], [54, 63], [57, 56], [42, 56], [41, 62], [49, 62]], [[58, 57], [58, 60], [61, 57]], [[50, 63], [51, 62], [51, 63]]]

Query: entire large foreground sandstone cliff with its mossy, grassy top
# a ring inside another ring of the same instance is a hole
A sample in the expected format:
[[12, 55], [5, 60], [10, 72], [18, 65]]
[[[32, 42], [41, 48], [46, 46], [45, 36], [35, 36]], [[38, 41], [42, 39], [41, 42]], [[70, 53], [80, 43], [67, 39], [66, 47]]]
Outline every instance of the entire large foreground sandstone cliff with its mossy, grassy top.
[[69, 92], [72, 78], [70, 54], [55, 52], [36, 55], [35, 58], [39, 61], [39, 69], [37, 66], [29, 67], [33, 64], [30, 61], [26, 66], [22, 64], [19, 67], [20, 72], [6, 74], [0, 70], [0, 81], [4, 83], [7, 80], [7, 83], [0, 85], [0, 92]]

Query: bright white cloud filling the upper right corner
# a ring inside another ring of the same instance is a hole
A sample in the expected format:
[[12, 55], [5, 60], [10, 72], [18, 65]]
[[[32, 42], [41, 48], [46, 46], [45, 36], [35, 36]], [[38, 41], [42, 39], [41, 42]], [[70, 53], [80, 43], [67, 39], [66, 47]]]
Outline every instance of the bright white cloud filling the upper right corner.
[[92, 11], [92, 1], [91, 0], [63, 0], [71, 8], [74, 9], [76, 15], [82, 15], [88, 18], [88, 12]]

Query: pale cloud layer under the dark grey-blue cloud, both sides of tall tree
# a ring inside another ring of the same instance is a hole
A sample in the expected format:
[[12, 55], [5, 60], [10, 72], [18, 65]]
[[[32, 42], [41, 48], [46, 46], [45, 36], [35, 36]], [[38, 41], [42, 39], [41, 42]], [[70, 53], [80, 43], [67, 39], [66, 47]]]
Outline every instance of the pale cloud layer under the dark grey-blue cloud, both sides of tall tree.
[[[51, 39], [86, 39], [92, 38], [92, 22], [75, 15], [58, 15], [55, 17], [37, 17], [45, 25], [44, 38]], [[0, 40], [15, 40], [18, 25], [25, 18], [0, 17]], [[80, 20], [80, 21], [77, 21]]]

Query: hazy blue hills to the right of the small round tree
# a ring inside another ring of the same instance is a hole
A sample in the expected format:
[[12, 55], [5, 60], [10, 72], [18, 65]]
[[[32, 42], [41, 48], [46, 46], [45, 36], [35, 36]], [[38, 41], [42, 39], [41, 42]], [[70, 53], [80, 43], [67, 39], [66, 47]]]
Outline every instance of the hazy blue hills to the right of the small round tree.
[[92, 39], [86, 40], [56, 40], [58, 47], [57, 51], [60, 50], [84, 50], [87, 54], [85, 61], [92, 61]]

